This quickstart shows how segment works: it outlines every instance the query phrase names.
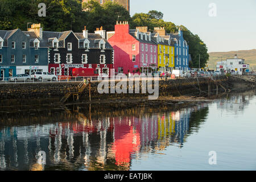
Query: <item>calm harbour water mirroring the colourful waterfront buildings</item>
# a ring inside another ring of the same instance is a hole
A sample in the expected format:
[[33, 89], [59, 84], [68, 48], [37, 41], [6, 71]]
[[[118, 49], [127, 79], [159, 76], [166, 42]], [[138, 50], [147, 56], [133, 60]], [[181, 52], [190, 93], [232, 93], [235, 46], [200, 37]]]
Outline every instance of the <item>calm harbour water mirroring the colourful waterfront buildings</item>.
[[1, 111], [0, 170], [256, 170], [255, 91], [179, 109], [118, 107]]

